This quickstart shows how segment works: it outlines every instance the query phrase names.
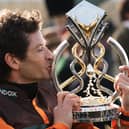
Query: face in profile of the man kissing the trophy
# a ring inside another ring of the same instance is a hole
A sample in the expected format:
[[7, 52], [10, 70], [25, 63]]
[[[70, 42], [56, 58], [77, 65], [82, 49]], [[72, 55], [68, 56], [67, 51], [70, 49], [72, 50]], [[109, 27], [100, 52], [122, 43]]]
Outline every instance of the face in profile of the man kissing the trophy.
[[20, 76], [25, 81], [50, 79], [53, 55], [40, 31], [29, 34], [26, 58], [20, 62]]

